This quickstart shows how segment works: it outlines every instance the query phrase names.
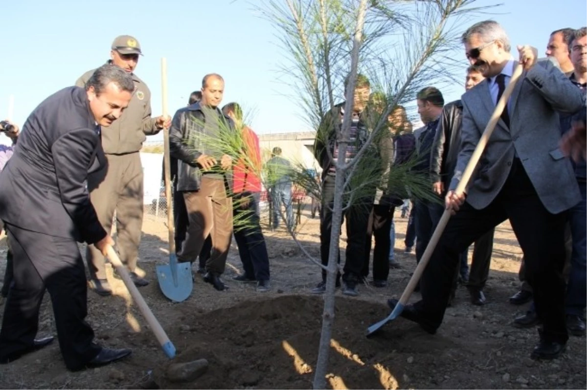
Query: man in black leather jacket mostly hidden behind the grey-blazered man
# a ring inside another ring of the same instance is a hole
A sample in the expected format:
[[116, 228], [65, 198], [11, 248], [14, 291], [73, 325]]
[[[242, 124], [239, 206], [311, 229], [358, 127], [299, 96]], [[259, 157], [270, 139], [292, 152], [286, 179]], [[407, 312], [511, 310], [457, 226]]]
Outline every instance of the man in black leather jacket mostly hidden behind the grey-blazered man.
[[[470, 90], [483, 80], [483, 75], [477, 69], [473, 66], [468, 67], [465, 90]], [[430, 156], [430, 174], [434, 192], [441, 196], [446, 195], [446, 189], [448, 189], [450, 180], [453, 178], [458, 152], [460, 151], [461, 115], [463, 115], [463, 104], [460, 100], [456, 100], [444, 106], [438, 122], [436, 138], [434, 139]], [[473, 305], [482, 306], [485, 304], [483, 288], [489, 275], [493, 234], [494, 230], [488, 231], [487, 234], [475, 241], [471, 273], [467, 283]], [[461, 265], [463, 265], [461, 268], [467, 265], [467, 251], [461, 254]], [[463, 272], [461, 272], [461, 276], [462, 274]], [[456, 289], [456, 283], [454, 283], [454, 288]]]

